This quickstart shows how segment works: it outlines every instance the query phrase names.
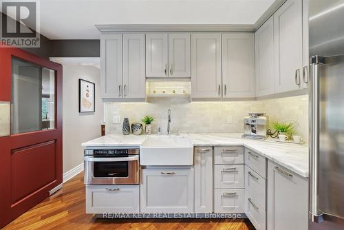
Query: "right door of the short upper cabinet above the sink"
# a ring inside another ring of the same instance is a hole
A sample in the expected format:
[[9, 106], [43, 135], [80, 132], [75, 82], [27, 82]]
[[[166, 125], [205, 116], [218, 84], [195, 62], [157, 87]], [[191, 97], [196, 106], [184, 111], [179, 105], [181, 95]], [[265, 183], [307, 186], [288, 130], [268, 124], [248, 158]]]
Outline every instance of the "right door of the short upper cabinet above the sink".
[[169, 34], [169, 76], [191, 77], [190, 34]]

